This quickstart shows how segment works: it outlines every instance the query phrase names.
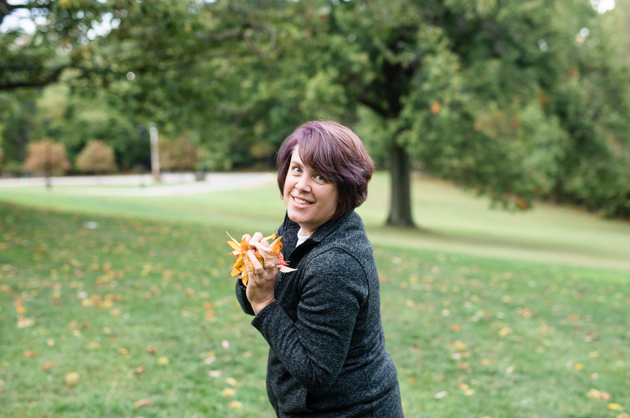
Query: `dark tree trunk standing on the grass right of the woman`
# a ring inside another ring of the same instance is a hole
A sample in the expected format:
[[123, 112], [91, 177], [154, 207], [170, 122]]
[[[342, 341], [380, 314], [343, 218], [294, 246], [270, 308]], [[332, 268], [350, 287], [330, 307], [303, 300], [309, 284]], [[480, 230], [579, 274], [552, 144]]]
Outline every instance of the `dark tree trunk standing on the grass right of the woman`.
[[391, 173], [391, 204], [387, 224], [395, 226], [415, 226], [411, 218], [411, 173], [409, 154], [394, 139], [389, 152]]

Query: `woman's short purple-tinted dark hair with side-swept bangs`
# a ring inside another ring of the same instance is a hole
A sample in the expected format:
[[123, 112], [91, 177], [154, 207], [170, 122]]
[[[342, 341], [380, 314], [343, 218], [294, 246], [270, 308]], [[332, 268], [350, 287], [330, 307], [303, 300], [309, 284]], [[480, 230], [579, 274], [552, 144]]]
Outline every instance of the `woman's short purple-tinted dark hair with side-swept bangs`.
[[311, 120], [297, 127], [282, 142], [276, 156], [281, 195], [284, 195], [284, 183], [296, 146], [302, 163], [336, 183], [339, 202], [333, 219], [365, 202], [374, 161], [352, 129], [332, 120]]

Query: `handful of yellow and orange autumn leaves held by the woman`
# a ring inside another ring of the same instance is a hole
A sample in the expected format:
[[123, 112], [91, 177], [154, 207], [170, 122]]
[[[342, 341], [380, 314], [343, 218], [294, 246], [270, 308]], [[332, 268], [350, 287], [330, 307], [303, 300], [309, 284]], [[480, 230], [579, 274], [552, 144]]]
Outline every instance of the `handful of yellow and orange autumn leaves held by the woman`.
[[[277, 268], [283, 273], [297, 270], [287, 267], [289, 264], [285, 262], [284, 257], [282, 257], [281, 253], [282, 242], [280, 241], [280, 238], [282, 238], [282, 236], [278, 236], [278, 238], [276, 238], [275, 232], [270, 236], [265, 236], [261, 238], [260, 245], [251, 245], [255, 243], [253, 243], [251, 240], [248, 240], [249, 235], [244, 235], [243, 240], [241, 240], [240, 243], [239, 241], [234, 240], [231, 235], [227, 234], [227, 236], [231, 238], [231, 241], [226, 242], [230, 245], [230, 247], [234, 248], [234, 251], [232, 251], [231, 254], [234, 255], [234, 257], [236, 258], [236, 261], [234, 261], [234, 265], [232, 265], [232, 274], [230, 275], [230, 279], [237, 274], [241, 274], [243, 284], [247, 286], [249, 277], [245, 264], [249, 266], [249, 270], [255, 270], [247, 255], [247, 252], [249, 250], [254, 252], [256, 258], [258, 258], [258, 261], [260, 261], [260, 264], [262, 264], [265, 269]], [[272, 243], [268, 243], [270, 240], [274, 241]]]

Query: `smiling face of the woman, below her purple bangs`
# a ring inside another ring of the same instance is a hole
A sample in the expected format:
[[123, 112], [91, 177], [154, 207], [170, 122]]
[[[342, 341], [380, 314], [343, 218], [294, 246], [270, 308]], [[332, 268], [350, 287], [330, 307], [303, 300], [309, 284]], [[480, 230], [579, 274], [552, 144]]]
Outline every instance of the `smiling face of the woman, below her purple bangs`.
[[337, 185], [304, 165], [297, 147], [291, 156], [282, 196], [289, 219], [300, 225], [305, 236], [333, 217], [339, 201]]

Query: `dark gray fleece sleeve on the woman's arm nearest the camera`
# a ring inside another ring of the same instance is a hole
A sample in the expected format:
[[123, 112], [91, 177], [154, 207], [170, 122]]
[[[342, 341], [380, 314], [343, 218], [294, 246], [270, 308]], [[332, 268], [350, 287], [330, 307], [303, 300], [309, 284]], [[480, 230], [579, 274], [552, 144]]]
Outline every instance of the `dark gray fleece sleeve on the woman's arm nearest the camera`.
[[318, 255], [304, 268], [297, 321], [273, 301], [252, 325], [295, 380], [321, 393], [331, 388], [345, 363], [359, 308], [367, 301], [367, 277], [358, 261], [340, 249]]

